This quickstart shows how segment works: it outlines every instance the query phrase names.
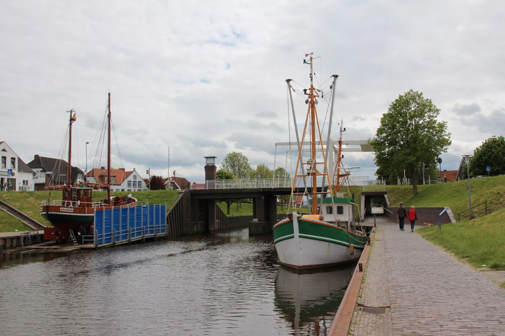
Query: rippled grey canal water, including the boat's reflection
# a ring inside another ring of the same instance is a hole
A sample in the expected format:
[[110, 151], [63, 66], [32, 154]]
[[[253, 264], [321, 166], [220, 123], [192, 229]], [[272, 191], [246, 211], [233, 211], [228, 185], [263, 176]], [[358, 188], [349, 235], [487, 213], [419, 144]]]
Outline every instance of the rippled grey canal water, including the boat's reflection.
[[74, 253], [5, 255], [0, 333], [326, 335], [355, 265], [296, 272], [247, 229]]

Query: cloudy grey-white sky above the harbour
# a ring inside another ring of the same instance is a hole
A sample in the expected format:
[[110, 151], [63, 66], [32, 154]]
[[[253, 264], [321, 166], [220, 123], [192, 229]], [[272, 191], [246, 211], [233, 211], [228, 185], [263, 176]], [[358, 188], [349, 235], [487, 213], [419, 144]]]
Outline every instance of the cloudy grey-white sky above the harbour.
[[[321, 84], [339, 75], [345, 139], [372, 137], [412, 88], [441, 109], [453, 141], [442, 169], [457, 169], [460, 155], [505, 133], [504, 13], [504, 2], [477, 0], [3, 1], [0, 141], [26, 162], [56, 157], [72, 107], [73, 162], [84, 169], [88, 141], [97, 164], [110, 91], [127, 170], [167, 176], [168, 146], [170, 173], [188, 179], [203, 179], [203, 156], [221, 162], [233, 150], [273, 166], [275, 142], [288, 140], [285, 79], [308, 87], [302, 60], [314, 52]], [[293, 99], [300, 122], [305, 98]], [[351, 162], [373, 177], [373, 156], [346, 155]]]

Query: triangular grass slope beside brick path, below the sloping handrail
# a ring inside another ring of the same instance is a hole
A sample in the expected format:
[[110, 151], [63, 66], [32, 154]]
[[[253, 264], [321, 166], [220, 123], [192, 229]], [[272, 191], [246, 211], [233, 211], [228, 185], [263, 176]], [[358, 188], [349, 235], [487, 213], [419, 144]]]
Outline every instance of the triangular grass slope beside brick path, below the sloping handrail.
[[417, 232], [458, 258], [468, 258], [474, 267], [505, 270], [505, 208], [472, 220], [445, 224], [442, 230], [433, 226]]

